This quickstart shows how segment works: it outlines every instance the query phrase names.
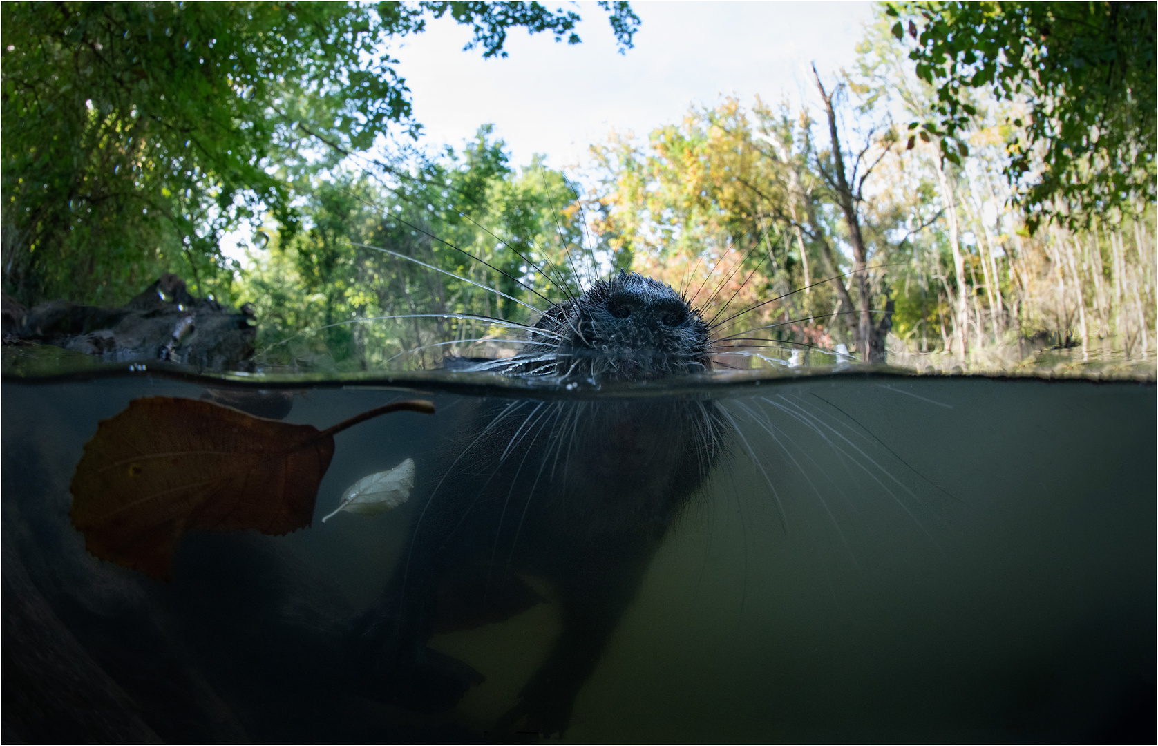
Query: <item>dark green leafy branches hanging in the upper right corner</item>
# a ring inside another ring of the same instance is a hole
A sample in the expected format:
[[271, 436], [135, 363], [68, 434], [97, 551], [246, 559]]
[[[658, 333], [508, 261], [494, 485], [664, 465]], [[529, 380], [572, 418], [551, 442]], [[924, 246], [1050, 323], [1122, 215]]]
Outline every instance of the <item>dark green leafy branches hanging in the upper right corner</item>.
[[891, 2], [897, 39], [911, 37], [917, 75], [938, 88], [913, 137], [939, 137], [941, 155], [968, 155], [977, 114], [968, 90], [1024, 101], [1005, 175], [1029, 213], [1070, 227], [1138, 213], [1156, 197], [1153, 2]]

